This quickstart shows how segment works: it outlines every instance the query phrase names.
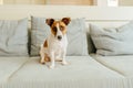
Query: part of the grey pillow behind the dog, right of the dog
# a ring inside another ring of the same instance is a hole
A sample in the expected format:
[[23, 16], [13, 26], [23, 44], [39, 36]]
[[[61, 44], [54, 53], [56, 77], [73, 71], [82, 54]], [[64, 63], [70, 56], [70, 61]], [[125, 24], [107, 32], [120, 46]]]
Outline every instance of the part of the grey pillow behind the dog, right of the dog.
[[88, 55], [85, 20], [75, 19], [68, 25], [68, 55]]

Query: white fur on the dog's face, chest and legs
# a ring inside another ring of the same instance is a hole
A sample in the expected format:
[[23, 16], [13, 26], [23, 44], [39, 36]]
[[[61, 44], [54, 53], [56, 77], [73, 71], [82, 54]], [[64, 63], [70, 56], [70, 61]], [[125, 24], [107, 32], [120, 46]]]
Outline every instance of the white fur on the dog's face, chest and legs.
[[[63, 65], [66, 64], [65, 62], [65, 54], [66, 54], [66, 46], [68, 46], [66, 34], [64, 35], [62, 34], [62, 32], [59, 29], [59, 25], [57, 25], [57, 28], [58, 28], [57, 36], [54, 36], [51, 33], [50, 36], [47, 38], [48, 47], [43, 47], [43, 44], [42, 44], [40, 50], [41, 63], [45, 63], [44, 55], [47, 54], [51, 61], [50, 68], [54, 68], [55, 59], [59, 59], [59, 58], [62, 59]], [[61, 41], [58, 40], [58, 35], [62, 36]]]

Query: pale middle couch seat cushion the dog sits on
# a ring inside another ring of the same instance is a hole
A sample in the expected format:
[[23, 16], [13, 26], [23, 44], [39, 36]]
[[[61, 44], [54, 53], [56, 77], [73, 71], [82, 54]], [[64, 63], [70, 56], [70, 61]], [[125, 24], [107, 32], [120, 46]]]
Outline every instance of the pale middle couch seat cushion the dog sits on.
[[31, 57], [7, 85], [10, 88], [123, 88], [122, 75], [90, 56], [68, 56], [66, 59], [69, 65], [55, 63], [55, 68], [50, 69], [48, 64], [39, 64], [39, 57]]

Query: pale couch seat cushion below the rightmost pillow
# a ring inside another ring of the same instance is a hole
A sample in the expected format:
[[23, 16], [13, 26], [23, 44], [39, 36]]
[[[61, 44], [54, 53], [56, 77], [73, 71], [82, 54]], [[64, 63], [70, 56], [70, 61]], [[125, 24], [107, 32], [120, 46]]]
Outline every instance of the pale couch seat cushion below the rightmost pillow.
[[115, 70], [125, 77], [133, 77], [133, 55], [124, 56], [92, 55], [92, 56], [108, 68]]

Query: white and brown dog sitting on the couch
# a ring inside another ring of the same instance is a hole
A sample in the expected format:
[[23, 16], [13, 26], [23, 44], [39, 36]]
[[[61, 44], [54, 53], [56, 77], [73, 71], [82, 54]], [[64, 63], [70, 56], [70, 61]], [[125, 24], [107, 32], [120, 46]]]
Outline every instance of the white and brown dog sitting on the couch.
[[51, 28], [51, 33], [48, 38], [41, 44], [40, 56], [41, 64], [51, 62], [50, 68], [54, 68], [55, 61], [61, 58], [62, 65], [66, 65], [65, 54], [68, 47], [66, 25], [70, 23], [70, 18], [63, 18], [60, 21], [47, 19], [45, 23]]

